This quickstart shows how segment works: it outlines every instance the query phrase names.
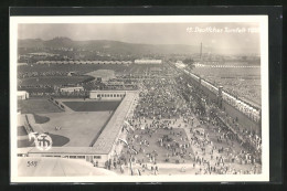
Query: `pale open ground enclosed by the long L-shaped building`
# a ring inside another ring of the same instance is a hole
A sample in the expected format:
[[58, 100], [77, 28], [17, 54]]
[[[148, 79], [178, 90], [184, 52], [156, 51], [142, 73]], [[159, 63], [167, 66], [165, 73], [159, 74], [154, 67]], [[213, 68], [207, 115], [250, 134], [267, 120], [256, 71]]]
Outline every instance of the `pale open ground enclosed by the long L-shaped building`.
[[[41, 127], [50, 135], [54, 135], [52, 140], [60, 146], [88, 147], [110, 115], [109, 112], [51, 113], [45, 115], [50, 121], [42, 124]], [[56, 130], [55, 127], [61, 129]]]

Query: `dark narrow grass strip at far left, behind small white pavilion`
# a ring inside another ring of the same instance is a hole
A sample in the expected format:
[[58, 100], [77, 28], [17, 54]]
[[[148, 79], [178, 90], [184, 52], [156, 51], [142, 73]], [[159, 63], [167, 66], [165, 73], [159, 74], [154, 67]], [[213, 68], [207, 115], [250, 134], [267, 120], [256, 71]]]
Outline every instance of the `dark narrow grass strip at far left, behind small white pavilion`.
[[91, 76], [40, 76], [40, 77], [29, 77], [21, 79], [19, 85], [22, 86], [36, 86], [36, 85], [67, 85], [77, 84], [83, 81], [92, 78]]

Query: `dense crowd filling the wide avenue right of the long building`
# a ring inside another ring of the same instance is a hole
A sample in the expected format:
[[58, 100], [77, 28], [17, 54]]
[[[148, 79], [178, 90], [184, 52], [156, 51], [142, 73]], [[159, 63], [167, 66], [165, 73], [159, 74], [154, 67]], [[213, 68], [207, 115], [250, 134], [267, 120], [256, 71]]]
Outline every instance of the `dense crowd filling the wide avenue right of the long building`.
[[[128, 119], [132, 128], [118, 158], [129, 161], [129, 174], [158, 174], [161, 170], [155, 172], [155, 166], [164, 168], [167, 163], [191, 166], [181, 171], [194, 174], [261, 173], [259, 135], [231, 129], [217, 116], [216, 104], [209, 103], [184, 77], [141, 82], [138, 105]], [[251, 145], [246, 137], [256, 144]]]

